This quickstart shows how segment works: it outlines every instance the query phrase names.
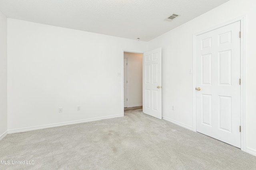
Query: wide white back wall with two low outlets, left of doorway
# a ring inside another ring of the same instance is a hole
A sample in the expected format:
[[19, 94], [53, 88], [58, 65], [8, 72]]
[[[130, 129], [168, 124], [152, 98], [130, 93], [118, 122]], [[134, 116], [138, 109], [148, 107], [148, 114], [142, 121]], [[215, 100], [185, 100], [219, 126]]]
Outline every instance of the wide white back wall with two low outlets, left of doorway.
[[8, 18], [8, 130], [122, 116], [123, 49], [147, 43]]

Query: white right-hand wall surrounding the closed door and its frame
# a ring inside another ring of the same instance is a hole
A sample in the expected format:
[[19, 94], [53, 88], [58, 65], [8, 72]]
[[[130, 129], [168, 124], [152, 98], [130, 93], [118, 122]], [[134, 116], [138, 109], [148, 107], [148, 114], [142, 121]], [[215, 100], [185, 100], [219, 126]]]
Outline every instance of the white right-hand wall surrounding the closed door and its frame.
[[[213, 10], [149, 41], [149, 49], [162, 47], [163, 116], [190, 129], [192, 113], [192, 36], [210, 27], [247, 16], [246, 129], [247, 150], [256, 154], [256, 6], [255, 0], [230, 0]], [[175, 110], [171, 109], [175, 106]]]

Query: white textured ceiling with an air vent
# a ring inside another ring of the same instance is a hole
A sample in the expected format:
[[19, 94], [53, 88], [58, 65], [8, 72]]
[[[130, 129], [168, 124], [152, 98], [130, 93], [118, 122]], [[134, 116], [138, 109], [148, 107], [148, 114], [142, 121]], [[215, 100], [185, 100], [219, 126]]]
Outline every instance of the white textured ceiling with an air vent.
[[[0, 0], [8, 18], [150, 41], [228, 0]], [[173, 21], [164, 21], [171, 14]]]

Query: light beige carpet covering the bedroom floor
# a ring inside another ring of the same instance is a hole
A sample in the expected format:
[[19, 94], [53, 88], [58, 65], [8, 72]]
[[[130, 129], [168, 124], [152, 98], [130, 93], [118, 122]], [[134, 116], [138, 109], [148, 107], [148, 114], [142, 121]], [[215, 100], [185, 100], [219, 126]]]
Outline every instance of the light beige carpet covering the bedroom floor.
[[[256, 156], [142, 113], [7, 135], [0, 169], [255, 170]], [[11, 161], [34, 164], [12, 164]]]

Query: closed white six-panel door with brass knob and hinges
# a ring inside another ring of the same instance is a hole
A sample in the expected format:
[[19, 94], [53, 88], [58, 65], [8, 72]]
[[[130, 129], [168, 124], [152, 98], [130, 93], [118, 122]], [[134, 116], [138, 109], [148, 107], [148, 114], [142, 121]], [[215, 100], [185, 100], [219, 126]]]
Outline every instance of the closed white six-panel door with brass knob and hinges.
[[239, 31], [240, 21], [237, 21], [196, 37], [197, 131], [238, 148], [241, 147]]

